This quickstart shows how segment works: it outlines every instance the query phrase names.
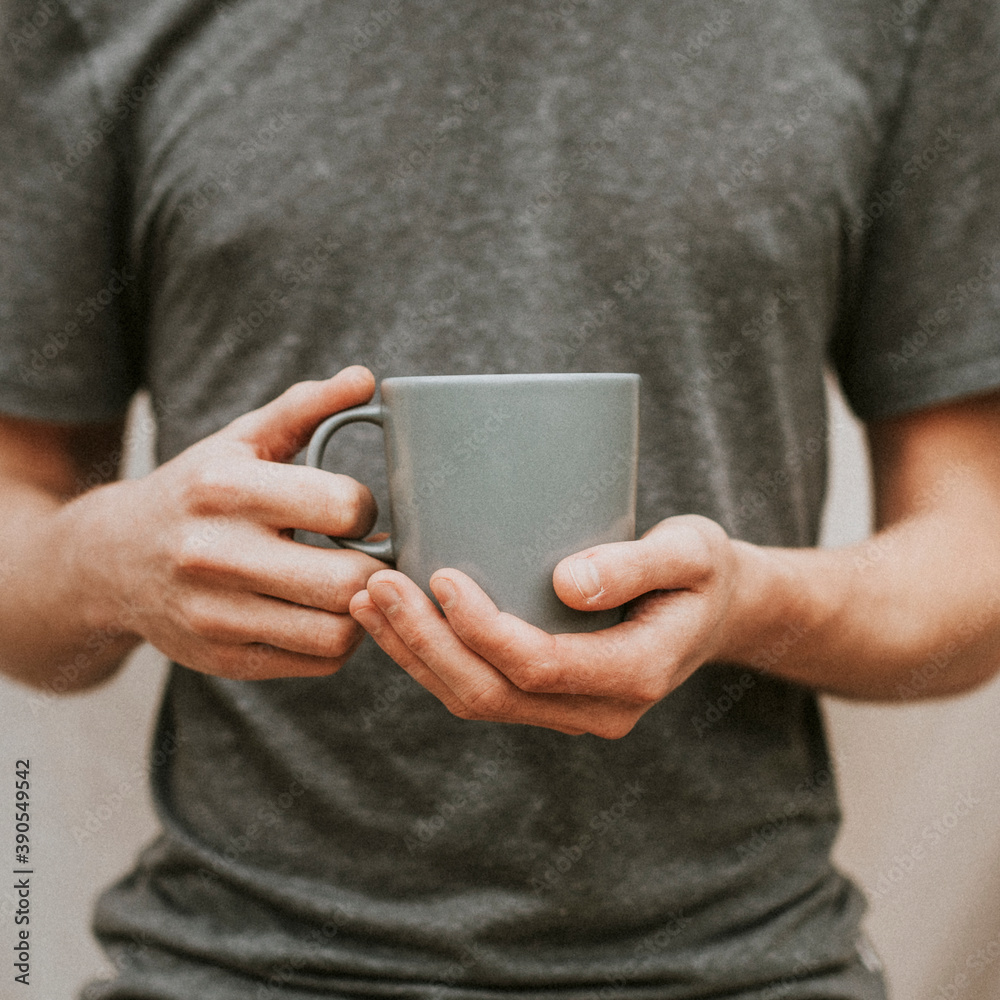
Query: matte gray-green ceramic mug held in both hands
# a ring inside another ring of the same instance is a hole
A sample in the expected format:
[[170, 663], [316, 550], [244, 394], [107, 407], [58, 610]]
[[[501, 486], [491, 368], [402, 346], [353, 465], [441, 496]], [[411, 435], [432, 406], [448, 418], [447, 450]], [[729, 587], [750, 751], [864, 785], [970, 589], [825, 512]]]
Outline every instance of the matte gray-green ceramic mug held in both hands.
[[548, 632], [590, 632], [620, 609], [576, 611], [556, 596], [565, 556], [635, 537], [639, 376], [618, 373], [415, 375], [382, 382], [381, 402], [335, 413], [306, 462], [341, 427], [382, 427], [391, 533], [334, 538], [392, 563], [432, 596], [435, 570], [467, 573]]

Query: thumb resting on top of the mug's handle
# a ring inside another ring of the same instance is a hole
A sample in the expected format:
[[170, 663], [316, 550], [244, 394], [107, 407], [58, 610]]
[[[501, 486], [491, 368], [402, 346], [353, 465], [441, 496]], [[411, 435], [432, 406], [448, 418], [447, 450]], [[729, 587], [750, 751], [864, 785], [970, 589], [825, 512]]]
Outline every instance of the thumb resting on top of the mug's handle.
[[222, 433], [251, 445], [258, 458], [285, 462], [305, 447], [323, 420], [367, 403], [374, 392], [375, 376], [352, 365], [322, 382], [297, 382], [277, 399], [237, 417]]

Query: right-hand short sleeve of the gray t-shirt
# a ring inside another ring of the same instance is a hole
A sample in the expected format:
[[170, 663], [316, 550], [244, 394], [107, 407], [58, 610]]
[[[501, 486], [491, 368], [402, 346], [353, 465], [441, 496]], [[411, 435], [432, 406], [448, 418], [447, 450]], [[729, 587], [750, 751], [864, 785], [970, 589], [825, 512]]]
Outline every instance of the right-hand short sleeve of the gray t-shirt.
[[862, 419], [1000, 385], [1000, 5], [917, 6], [898, 117], [848, 226], [863, 256], [833, 360]]

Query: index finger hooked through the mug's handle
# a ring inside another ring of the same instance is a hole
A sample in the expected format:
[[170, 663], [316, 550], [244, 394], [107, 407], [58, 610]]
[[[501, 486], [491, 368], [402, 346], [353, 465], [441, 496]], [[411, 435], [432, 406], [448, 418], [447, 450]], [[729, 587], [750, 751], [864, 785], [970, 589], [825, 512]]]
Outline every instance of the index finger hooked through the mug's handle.
[[378, 516], [371, 490], [350, 476], [256, 460], [199, 466], [185, 487], [185, 502], [196, 514], [344, 538], [363, 536]]

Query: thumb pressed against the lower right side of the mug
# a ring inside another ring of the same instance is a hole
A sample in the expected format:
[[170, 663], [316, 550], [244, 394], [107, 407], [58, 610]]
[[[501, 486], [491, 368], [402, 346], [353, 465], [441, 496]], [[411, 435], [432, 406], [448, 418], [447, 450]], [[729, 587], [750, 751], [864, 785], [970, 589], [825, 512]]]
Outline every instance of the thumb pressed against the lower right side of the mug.
[[707, 517], [668, 517], [634, 542], [595, 545], [567, 556], [552, 573], [571, 608], [616, 608], [653, 590], [701, 590], [728, 567], [729, 536]]

